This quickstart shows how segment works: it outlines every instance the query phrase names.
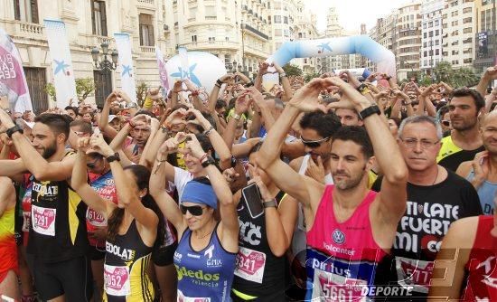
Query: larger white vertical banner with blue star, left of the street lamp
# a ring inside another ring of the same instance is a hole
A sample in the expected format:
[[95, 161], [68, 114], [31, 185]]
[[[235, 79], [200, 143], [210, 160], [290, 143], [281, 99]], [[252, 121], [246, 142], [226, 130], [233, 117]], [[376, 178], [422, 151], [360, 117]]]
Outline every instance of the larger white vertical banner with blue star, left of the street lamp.
[[78, 99], [66, 26], [61, 21], [47, 19], [43, 20], [43, 24], [52, 57], [53, 85], [57, 96], [57, 107], [63, 109], [70, 105], [70, 99]]

